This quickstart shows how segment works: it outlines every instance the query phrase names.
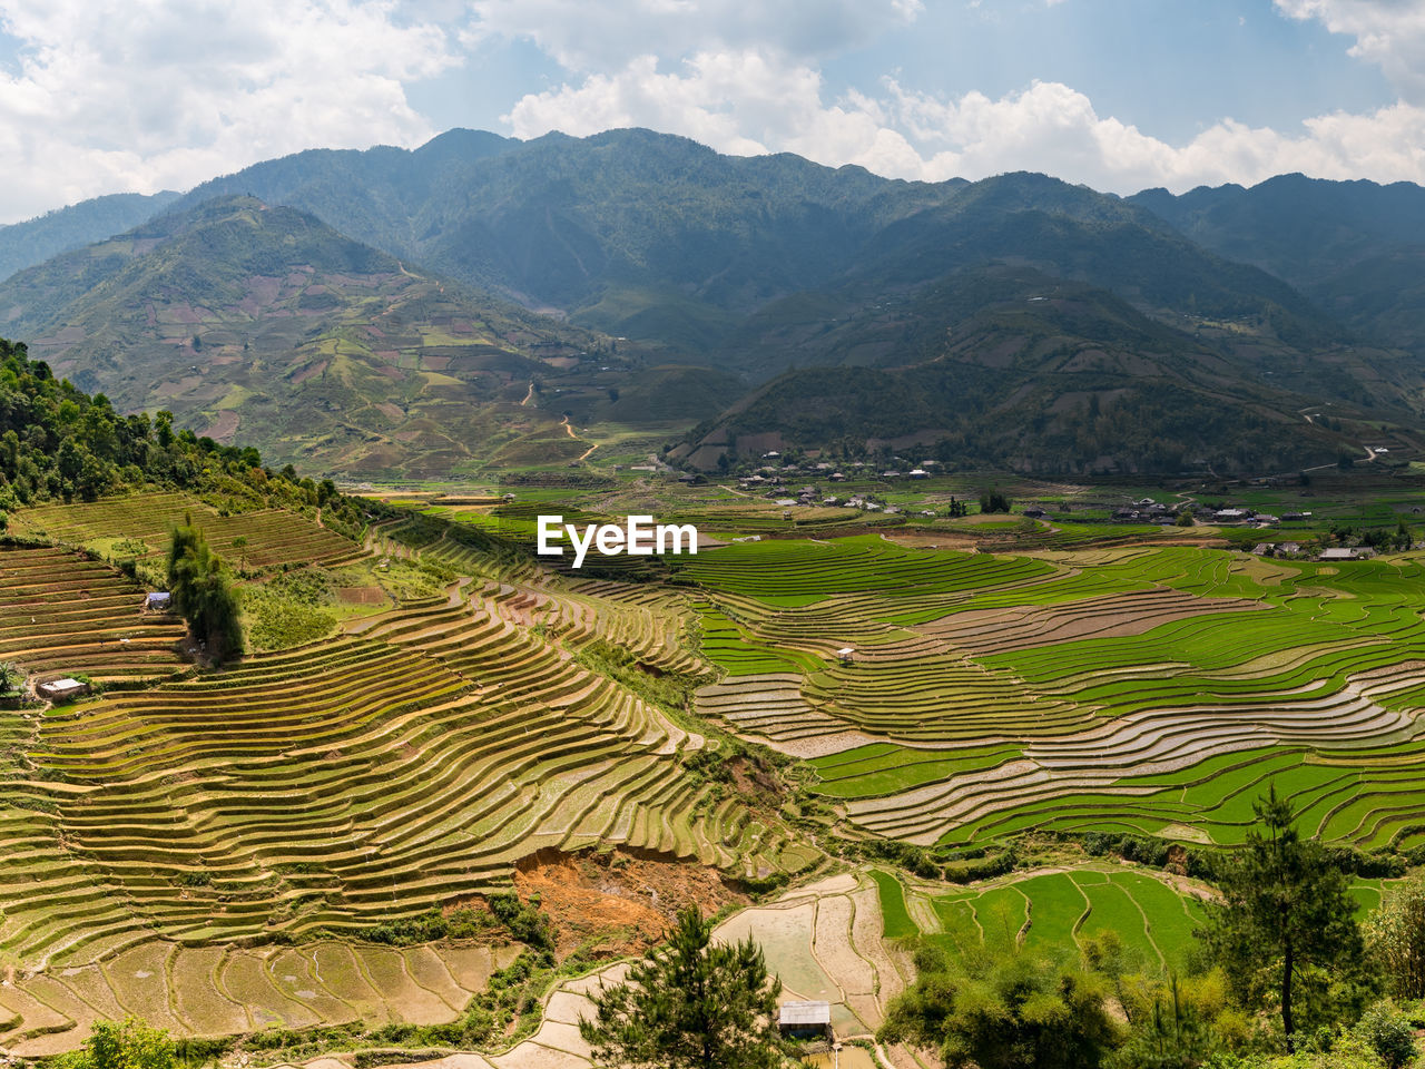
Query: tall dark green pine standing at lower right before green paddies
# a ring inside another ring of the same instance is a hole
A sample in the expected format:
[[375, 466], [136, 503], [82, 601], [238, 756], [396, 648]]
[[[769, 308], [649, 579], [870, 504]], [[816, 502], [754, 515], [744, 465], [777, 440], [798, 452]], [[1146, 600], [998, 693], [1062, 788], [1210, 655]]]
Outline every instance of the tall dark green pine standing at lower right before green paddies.
[[1345, 872], [1315, 840], [1292, 827], [1291, 804], [1277, 797], [1253, 802], [1260, 827], [1227, 858], [1223, 901], [1206, 936], [1244, 1005], [1261, 1005], [1270, 988], [1281, 1011], [1287, 1049], [1295, 1049], [1298, 986], [1311, 969], [1352, 974], [1364, 958], [1355, 904]]

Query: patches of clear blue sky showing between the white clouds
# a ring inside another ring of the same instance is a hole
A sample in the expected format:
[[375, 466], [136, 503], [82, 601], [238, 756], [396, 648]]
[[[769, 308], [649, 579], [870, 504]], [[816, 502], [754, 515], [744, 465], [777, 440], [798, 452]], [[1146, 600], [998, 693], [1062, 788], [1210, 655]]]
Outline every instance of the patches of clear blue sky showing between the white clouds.
[[[913, 90], [990, 97], [1036, 78], [1087, 94], [1106, 114], [1171, 141], [1223, 118], [1292, 128], [1311, 115], [1395, 101], [1379, 67], [1348, 56], [1352, 40], [1271, 0], [1043, 0], [929, 3], [821, 61], [831, 95], [874, 91], [893, 73]], [[569, 76], [529, 38], [493, 38], [472, 61], [413, 87], [437, 125], [499, 133], [526, 93]]]

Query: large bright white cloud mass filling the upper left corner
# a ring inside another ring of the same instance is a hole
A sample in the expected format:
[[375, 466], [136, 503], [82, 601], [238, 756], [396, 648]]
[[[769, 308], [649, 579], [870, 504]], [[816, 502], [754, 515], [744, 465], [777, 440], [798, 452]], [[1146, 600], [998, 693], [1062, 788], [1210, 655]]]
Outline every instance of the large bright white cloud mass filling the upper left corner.
[[418, 144], [403, 83], [456, 58], [390, 0], [0, 0], [0, 217], [187, 188], [314, 145]]

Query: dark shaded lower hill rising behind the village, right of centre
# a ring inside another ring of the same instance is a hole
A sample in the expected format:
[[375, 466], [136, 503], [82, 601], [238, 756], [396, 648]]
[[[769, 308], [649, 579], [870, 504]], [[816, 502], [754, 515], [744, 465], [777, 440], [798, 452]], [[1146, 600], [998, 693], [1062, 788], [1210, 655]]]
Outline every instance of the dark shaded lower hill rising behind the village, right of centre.
[[1029, 268], [962, 271], [814, 326], [824, 311], [805, 298], [770, 306], [755, 345], [835, 366], [784, 373], [680, 455], [712, 466], [775, 440], [852, 456], [915, 445], [948, 463], [1035, 472], [1291, 470], [1358, 449], [1349, 428], [1308, 422], [1304, 406], [1335, 399], [1364, 419], [1411, 403], [1408, 376], [1355, 351], [1305, 356], [1270, 315], [1187, 334]]

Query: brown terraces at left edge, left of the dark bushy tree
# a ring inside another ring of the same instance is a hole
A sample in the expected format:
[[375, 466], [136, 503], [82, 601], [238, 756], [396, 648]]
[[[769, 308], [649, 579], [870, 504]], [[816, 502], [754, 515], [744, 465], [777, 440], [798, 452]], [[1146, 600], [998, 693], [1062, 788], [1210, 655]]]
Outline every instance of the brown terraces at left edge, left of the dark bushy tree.
[[0, 546], [0, 661], [37, 680], [88, 674], [138, 686], [182, 667], [175, 617], [107, 564], [58, 549]]

